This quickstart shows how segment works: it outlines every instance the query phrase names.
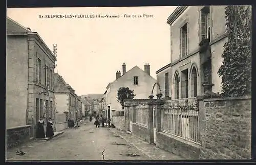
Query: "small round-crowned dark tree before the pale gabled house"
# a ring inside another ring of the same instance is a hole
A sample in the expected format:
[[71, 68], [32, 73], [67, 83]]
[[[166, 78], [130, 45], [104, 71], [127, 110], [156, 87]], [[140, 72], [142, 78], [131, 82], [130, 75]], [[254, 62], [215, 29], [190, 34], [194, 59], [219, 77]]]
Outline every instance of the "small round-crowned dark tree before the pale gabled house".
[[134, 95], [134, 90], [129, 89], [129, 87], [121, 87], [117, 90], [117, 102], [119, 102], [124, 109], [123, 100], [124, 99], [133, 99], [136, 95]]

